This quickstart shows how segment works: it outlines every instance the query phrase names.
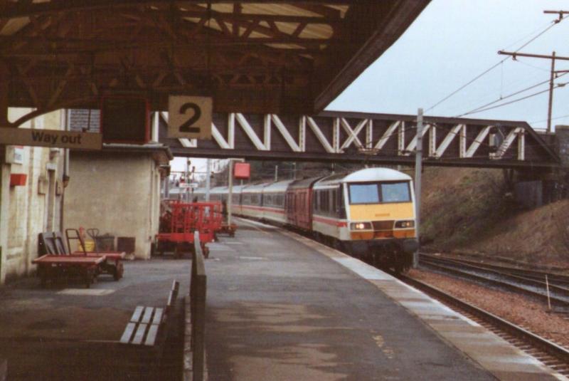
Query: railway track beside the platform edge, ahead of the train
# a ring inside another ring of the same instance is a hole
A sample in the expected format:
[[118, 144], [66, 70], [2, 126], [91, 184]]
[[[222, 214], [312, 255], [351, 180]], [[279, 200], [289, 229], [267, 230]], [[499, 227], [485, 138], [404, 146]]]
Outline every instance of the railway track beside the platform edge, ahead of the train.
[[491, 330], [504, 340], [509, 341], [517, 348], [525, 351], [529, 355], [536, 357], [548, 367], [559, 372], [561, 375], [569, 377], [569, 350], [557, 345], [545, 338], [541, 338], [534, 333], [525, 330], [518, 325], [510, 323], [507, 320], [499, 318], [481, 308], [472, 306], [467, 302], [454, 298], [454, 296], [441, 291], [438, 288], [423, 283], [421, 281], [410, 278], [409, 276], [399, 275], [401, 281], [408, 283], [410, 286], [420, 289], [428, 295], [437, 298], [447, 306], [458, 310], [463, 315], [476, 321], [484, 328]]

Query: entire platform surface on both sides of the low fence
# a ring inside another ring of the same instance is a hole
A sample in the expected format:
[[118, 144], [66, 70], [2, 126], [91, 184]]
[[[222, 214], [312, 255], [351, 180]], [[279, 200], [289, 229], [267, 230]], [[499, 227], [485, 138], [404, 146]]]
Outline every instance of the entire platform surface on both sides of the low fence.
[[[548, 380], [532, 357], [395, 278], [297, 234], [238, 220], [209, 244], [208, 380]], [[136, 306], [164, 306], [188, 259], [127, 261], [124, 278], [0, 288], [8, 380], [126, 380]], [[181, 363], [156, 380], [179, 380]], [[146, 379], [153, 379], [146, 377]]]

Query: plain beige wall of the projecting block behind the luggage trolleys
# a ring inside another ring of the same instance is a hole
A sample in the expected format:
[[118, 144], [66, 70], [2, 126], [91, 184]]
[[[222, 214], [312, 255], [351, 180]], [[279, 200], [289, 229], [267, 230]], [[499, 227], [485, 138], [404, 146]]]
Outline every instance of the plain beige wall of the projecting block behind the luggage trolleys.
[[72, 152], [69, 175], [65, 228], [134, 237], [134, 256], [149, 259], [160, 207], [160, 173], [151, 154]]

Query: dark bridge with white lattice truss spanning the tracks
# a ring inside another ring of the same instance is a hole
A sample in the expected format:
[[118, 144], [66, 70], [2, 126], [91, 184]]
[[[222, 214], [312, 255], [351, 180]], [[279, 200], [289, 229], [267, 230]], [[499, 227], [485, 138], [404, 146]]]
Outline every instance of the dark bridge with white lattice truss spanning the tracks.
[[[245, 157], [411, 164], [417, 147], [416, 115], [324, 112], [308, 115], [214, 114], [212, 140], [169, 139], [167, 113], [156, 114], [160, 141], [175, 156]], [[558, 156], [526, 122], [425, 117], [427, 165], [556, 167]], [[553, 141], [553, 140], [551, 140]]]

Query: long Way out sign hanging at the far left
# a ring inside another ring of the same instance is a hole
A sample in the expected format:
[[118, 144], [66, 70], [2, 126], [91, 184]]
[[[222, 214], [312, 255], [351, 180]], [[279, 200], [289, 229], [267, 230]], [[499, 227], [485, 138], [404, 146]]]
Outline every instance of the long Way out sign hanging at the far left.
[[0, 145], [35, 145], [75, 150], [100, 150], [102, 135], [91, 132], [0, 127]]

